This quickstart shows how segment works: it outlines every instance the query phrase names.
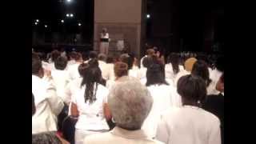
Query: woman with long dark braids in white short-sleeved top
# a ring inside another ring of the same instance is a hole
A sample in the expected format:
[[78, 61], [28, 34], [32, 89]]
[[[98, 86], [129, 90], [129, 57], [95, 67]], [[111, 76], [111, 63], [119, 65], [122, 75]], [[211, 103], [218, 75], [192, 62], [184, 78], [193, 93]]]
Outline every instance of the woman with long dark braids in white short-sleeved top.
[[71, 115], [78, 117], [75, 125], [75, 143], [83, 143], [83, 139], [95, 133], [109, 130], [103, 114], [103, 105], [109, 90], [100, 84], [102, 78], [98, 66], [90, 66], [83, 74], [80, 90], [74, 94]]

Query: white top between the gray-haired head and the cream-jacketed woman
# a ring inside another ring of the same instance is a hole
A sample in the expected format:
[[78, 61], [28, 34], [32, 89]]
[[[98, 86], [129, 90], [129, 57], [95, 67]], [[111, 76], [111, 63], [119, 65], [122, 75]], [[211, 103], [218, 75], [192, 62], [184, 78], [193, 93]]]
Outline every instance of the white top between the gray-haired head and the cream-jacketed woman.
[[148, 86], [147, 89], [153, 98], [153, 105], [150, 114], [142, 125], [142, 130], [145, 130], [150, 138], [155, 138], [161, 114], [170, 108], [170, 106], [180, 106], [181, 98], [177, 98], [179, 95], [175, 94], [175, 88], [173, 86], [167, 86], [165, 84], [152, 85]]

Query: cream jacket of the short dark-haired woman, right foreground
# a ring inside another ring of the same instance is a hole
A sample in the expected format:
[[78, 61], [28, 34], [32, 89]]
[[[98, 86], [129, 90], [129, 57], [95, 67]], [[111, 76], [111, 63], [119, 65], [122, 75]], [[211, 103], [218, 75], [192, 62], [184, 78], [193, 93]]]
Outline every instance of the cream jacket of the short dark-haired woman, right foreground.
[[172, 107], [162, 114], [156, 139], [166, 144], [221, 144], [220, 122], [196, 106]]

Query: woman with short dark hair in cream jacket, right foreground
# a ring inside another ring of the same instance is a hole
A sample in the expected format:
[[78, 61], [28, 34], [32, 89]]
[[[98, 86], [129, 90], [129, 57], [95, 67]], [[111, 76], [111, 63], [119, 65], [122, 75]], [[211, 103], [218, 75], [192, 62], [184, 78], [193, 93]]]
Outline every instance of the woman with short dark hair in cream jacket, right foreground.
[[189, 74], [178, 80], [177, 88], [182, 107], [162, 114], [156, 138], [166, 144], [221, 144], [219, 119], [200, 108], [206, 98], [206, 82]]

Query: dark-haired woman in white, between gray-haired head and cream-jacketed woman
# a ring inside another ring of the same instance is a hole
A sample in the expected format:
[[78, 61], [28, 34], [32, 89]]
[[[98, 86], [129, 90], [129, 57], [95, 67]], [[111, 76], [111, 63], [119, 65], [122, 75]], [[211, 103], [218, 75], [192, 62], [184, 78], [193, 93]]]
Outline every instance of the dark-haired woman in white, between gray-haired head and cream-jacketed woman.
[[150, 114], [142, 125], [142, 130], [150, 138], [155, 138], [158, 122], [162, 112], [170, 106], [178, 106], [181, 103], [175, 89], [166, 82], [164, 71], [159, 64], [151, 64], [146, 71], [146, 86], [154, 100]]

